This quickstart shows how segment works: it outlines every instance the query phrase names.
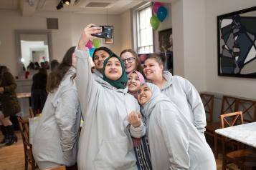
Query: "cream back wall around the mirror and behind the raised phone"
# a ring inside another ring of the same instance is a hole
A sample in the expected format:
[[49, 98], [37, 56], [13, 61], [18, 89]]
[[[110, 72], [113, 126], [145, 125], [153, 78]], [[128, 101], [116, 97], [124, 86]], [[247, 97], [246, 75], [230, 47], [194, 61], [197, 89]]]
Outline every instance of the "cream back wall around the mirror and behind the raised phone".
[[[14, 29], [47, 29], [46, 18], [58, 18], [59, 29], [52, 30], [53, 59], [62, 60], [70, 46], [75, 46], [84, 26], [90, 23], [114, 26], [114, 44], [108, 45], [120, 53], [120, 16], [72, 14], [68, 12], [37, 12], [33, 17], [22, 17], [18, 11], [0, 10], [0, 64], [9, 67], [14, 76], [18, 75]], [[105, 45], [105, 44], [103, 44]]]

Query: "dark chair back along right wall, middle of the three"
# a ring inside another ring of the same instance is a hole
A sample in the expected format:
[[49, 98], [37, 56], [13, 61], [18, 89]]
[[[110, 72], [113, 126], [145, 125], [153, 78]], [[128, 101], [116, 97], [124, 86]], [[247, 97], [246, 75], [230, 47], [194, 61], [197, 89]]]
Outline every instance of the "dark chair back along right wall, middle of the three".
[[227, 114], [236, 111], [237, 98], [233, 96], [222, 96], [222, 108], [220, 114]]

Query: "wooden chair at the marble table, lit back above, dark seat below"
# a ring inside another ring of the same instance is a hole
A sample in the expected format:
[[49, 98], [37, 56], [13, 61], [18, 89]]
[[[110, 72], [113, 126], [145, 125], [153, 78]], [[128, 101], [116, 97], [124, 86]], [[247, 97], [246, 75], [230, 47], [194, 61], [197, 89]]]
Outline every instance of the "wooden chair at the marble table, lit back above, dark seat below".
[[[220, 115], [220, 125], [222, 128], [243, 123], [242, 111]], [[230, 144], [232, 141], [233, 140], [222, 136], [222, 170], [232, 169], [232, 167], [229, 166], [230, 163], [236, 164], [241, 169], [245, 170], [256, 169], [256, 154], [253, 151], [239, 149], [227, 152], [227, 144]]]

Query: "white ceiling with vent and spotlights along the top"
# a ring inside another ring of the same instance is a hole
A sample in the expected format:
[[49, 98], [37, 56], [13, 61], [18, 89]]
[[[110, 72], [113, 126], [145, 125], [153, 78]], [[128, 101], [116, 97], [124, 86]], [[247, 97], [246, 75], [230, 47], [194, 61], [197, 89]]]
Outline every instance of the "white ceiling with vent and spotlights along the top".
[[[22, 16], [33, 16], [36, 11], [73, 12], [75, 14], [122, 14], [150, 0], [71, 0], [69, 6], [56, 9], [60, 0], [0, 0], [0, 10], [19, 10]], [[151, 0], [154, 1], [154, 0]], [[156, 0], [170, 3], [171, 0]], [[92, 4], [93, 3], [93, 4]], [[100, 7], [107, 3], [107, 6]], [[95, 5], [95, 7], [88, 7]]]

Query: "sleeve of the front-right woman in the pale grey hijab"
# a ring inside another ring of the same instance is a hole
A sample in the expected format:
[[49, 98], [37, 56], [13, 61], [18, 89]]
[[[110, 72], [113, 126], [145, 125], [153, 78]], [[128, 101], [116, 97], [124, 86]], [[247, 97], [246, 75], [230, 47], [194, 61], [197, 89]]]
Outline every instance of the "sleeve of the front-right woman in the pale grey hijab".
[[170, 106], [161, 105], [157, 109], [158, 124], [163, 134], [163, 140], [169, 153], [171, 170], [189, 169], [189, 129], [185, 122], [182, 121], [177, 109]]

